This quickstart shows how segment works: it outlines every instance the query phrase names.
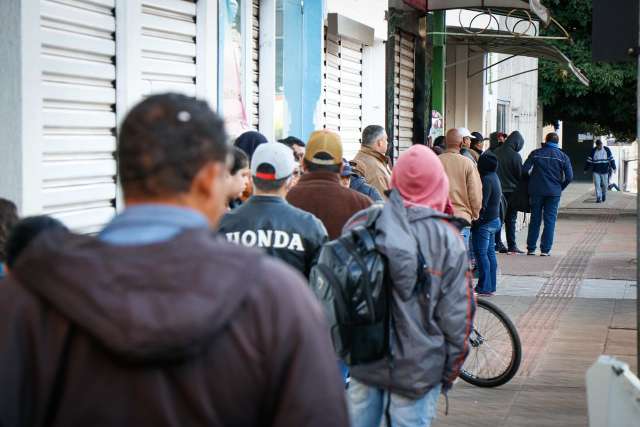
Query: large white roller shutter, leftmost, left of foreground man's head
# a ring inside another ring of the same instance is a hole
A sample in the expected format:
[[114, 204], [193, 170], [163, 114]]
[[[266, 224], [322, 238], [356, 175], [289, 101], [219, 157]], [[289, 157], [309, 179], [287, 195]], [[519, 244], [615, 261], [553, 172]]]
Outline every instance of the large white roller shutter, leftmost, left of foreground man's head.
[[43, 213], [87, 233], [115, 213], [114, 3], [40, 3]]

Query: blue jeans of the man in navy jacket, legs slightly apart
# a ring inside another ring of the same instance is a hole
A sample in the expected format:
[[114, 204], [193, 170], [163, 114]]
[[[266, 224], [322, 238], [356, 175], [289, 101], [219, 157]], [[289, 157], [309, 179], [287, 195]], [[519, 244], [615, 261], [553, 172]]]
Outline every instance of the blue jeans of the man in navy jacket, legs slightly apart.
[[540, 250], [544, 253], [551, 251], [559, 204], [560, 196], [531, 196], [531, 222], [527, 234], [527, 249], [529, 251], [536, 250], [543, 219], [544, 230], [542, 231], [542, 239], [540, 239]]

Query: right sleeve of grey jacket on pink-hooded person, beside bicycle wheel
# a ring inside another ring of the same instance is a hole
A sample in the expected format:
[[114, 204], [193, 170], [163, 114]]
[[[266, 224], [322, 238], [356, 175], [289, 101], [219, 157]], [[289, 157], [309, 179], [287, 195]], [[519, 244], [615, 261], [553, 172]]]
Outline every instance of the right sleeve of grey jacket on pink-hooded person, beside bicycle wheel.
[[449, 251], [442, 272], [442, 294], [436, 306], [437, 322], [444, 334], [447, 349], [442, 376], [445, 388], [458, 377], [469, 352], [469, 334], [475, 309], [467, 255], [464, 251]]

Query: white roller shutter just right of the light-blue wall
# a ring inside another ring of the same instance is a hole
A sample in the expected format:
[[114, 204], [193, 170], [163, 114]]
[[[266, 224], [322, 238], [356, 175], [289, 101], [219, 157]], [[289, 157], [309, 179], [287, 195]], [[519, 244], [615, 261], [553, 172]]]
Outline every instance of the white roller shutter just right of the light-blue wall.
[[362, 141], [362, 49], [325, 31], [323, 126], [340, 134], [347, 159]]

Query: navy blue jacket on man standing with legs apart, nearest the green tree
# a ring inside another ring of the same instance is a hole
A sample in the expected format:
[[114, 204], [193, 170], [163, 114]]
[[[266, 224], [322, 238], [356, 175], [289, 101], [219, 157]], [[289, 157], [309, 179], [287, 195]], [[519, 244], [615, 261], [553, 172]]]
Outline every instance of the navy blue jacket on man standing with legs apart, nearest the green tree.
[[562, 190], [573, 180], [569, 156], [558, 148], [558, 144], [551, 142], [533, 150], [522, 169], [531, 176], [531, 196], [560, 196]]

